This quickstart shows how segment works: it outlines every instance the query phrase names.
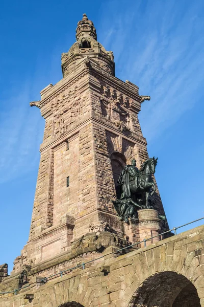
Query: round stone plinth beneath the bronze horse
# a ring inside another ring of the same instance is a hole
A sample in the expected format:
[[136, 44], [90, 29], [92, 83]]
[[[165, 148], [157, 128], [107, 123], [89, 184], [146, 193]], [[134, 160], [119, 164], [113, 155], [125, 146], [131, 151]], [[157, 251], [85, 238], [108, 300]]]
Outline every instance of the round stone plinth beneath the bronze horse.
[[[139, 220], [139, 235], [140, 241], [149, 239], [161, 233], [163, 221], [159, 218], [159, 212], [155, 209], [141, 209], [138, 210]], [[160, 236], [146, 241], [146, 245], [156, 243], [161, 240]], [[144, 247], [144, 243], [141, 244]]]

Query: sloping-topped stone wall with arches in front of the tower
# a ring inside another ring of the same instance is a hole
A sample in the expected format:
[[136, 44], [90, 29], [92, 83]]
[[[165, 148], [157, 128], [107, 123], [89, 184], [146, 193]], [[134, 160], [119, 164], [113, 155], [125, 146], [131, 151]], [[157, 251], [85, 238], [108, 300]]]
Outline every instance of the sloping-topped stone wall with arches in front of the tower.
[[[30, 287], [17, 295], [2, 295], [0, 307], [59, 307], [73, 303], [84, 307], [174, 307], [182, 299], [177, 295], [184, 294], [186, 287], [196, 298], [195, 307], [203, 307], [203, 235], [204, 226], [200, 226], [124, 255], [118, 256], [110, 248], [97, 264], [87, 264], [84, 270], [73, 270], [62, 278], [59, 275], [45, 284], [28, 273]], [[33, 294], [31, 300], [28, 294]], [[182, 302], [186, 306], [184, 299]]]

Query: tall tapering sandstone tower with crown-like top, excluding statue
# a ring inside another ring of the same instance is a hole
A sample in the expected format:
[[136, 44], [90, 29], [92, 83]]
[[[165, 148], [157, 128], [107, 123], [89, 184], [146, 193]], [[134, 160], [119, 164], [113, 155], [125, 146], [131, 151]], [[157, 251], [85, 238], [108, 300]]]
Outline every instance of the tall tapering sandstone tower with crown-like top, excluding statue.
[[[45, 129], [29, 241], [14, 272], [64, 252], [99, 253], [143, 238], [137, 219], [119, 221], [112, 200], [125, 164], [135, 158], [140, 167], [148, 158], [138, 112], [149, 97], [115, 77], [113, 52], [97, 41], [86, 14], [76, 32], [77, 41], [62, 54], [63, 79], [31, 102]], [[158, 191], [154, 202], [164, 214]], [[150, 236], [168, 229], [158, 216], [148, 223]]]

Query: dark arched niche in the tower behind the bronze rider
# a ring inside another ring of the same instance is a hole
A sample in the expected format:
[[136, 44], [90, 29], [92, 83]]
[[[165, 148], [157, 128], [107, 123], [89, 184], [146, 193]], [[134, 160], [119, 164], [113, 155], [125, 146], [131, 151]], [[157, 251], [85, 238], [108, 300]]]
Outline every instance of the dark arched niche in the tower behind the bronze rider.
[[120, 199], [121, 190], [120, 190], [120, 185], [118, 184], [118, 178], [120, 176], [121, 171], [126, 165], [125, 156], [120, 152], [113, 152], [111, 155], [111, 165], [112, 165], [113, 179], [115, 183], [117, 199]]

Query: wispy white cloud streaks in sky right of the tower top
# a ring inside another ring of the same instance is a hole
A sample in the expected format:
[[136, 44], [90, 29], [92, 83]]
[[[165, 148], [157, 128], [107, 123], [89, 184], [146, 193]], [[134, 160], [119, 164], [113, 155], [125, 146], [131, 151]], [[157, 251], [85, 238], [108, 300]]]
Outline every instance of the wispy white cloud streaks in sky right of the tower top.
[[102, 27], [109, 35], [102, 40], [116, 55], [117, 77], [129, 79], [140, 87], [141, 95], [151, 96], [140, 113], [143, 134], [151, 142], [202, 93], [204, 21], [199, 14], [201, 1], [145, 3], [134, 1], [127, 6], [121, 1], [118, 10], [123, 13], [117, 14], [115, 1], [110, 2]]

